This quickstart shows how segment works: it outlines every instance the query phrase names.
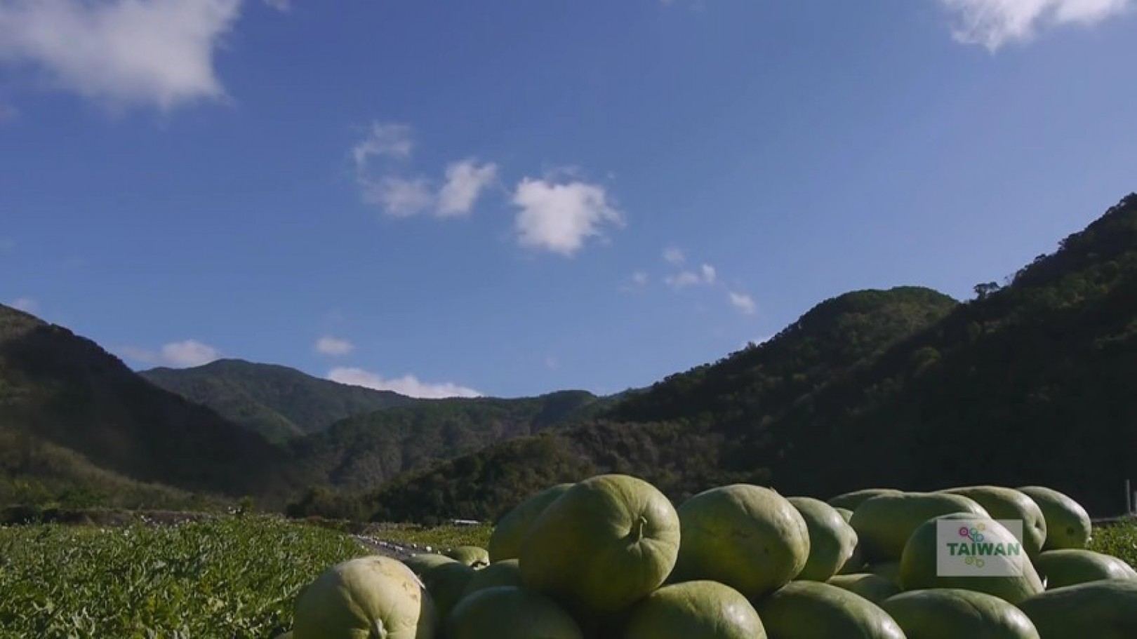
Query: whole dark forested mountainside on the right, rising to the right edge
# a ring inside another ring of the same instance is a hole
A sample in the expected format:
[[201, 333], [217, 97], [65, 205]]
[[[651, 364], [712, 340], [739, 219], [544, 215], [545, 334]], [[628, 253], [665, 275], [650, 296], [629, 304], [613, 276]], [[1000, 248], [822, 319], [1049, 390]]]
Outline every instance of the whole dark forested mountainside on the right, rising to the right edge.
[[549, 483], [628, 472], [675, 499], [731, 481], [822, 498], [1044, 483], [1117, 513], [1137, 476], [1137, 194], [976, 291], [840, 296], [598, 421], [400, 475], [355, 506], [492, 518]]

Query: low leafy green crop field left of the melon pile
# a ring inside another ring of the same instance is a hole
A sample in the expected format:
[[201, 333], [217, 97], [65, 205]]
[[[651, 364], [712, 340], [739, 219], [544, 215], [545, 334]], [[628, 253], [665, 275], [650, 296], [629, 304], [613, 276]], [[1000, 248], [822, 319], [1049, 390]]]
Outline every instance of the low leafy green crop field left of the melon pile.
[[365, 553], [269, 517], [0, 529], [0, 639], [267, 639], [291, 628], [302, 586]]

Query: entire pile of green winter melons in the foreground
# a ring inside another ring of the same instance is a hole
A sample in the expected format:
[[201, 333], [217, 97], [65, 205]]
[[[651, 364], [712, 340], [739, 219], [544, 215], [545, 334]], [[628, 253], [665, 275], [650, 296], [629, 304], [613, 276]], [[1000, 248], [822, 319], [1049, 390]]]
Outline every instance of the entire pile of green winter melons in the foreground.
[[[937, 522], [1023, 550], [1013, 576], [941, 576]], [[1022, 522], [1013, 536], [996, 520]], [[605, 474], [531, 496], [489, 548], [329, 569], [291, 639], [1137, 639], [1137, 572], [1086, 549], [1056, 491], [861, 490], [829, 503], [750, 484], [678, 508]]]

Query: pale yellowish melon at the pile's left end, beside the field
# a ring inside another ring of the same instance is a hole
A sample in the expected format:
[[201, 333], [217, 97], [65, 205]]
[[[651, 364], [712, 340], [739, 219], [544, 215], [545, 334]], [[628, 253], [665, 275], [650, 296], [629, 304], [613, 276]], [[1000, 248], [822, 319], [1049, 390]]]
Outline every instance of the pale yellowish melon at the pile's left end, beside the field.
[[368, 556], [337, 564], [297, 597], [293, 639], [431, 639], [434, 600], [401, 562]]

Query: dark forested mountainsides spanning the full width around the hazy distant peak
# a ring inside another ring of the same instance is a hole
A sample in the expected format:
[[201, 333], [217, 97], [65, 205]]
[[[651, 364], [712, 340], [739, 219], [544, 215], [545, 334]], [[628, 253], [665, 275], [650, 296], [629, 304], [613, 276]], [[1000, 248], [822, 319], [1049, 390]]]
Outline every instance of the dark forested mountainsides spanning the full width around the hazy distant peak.
[[[1137, 196], [976, 292], [856, 291], [623, 397], [420, 400], [279, 446], [0, 307], [0, 501], [159, 507], [217, 492], [294, 514], [492, 520], [536, 487], [625, 472], [675, 499], [732, 481], [818, 497], [1043, 483], [1115, 513], [1137, 478]], [[302, 388], [323, 390], [290, 393], [288, 371], [230, 362], [188, 379], [225, 389], [206, 392], [218, 410], [297, 429], [363, 405], [345, 399], [363, 389], [312, 379]]]

